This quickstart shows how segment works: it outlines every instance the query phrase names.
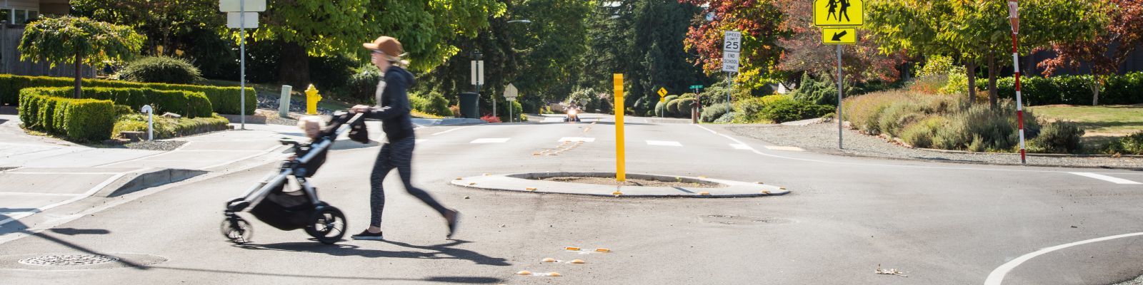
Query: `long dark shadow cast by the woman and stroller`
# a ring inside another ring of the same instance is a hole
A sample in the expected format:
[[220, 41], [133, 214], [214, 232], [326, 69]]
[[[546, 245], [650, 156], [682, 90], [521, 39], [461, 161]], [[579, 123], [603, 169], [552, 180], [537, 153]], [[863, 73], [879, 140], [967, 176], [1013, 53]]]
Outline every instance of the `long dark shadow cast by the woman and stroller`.
[[410, 245], [406, 243], [390, 242], [390, 241], [382, 241], [382, 242], [402, 247], [425, 250], [429, 252], [361, 250], [361, 247], [357, 245], [349, 245], [349, 244], [326, 245], [313, 242], [277, 243], [277, 244], [237, 244], [233, 246], [246, 250], [325, 253], [336, 256], [398, 258], [398, 259], [459, 259], [459, 260], [469, 260], [475, 262], [477, 264], [510, 266], [507, 262], [505, 262], [505, 259], [491, 258], [473, 251], [450, 247], [454, 245], [469, 243], [464, 241], [453, 241], [451, 243], [448, 244], [427, 245], [427, 246]]

